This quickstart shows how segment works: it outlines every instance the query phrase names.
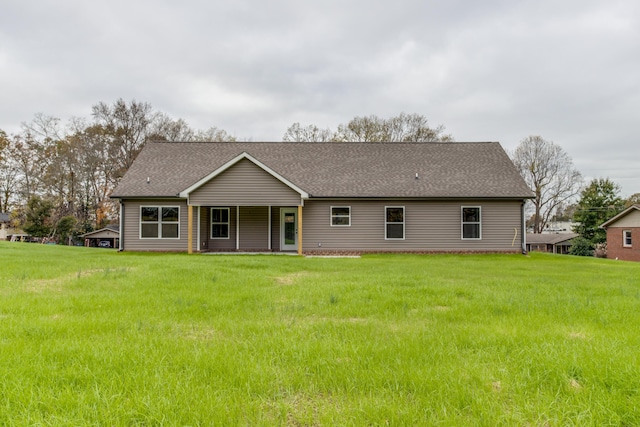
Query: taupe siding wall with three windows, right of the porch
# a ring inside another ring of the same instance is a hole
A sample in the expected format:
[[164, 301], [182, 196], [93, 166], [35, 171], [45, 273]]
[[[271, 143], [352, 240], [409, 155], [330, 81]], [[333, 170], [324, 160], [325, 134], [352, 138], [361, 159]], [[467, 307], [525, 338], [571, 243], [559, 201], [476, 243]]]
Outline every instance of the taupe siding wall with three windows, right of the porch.
[[[521, 203], [517, 200], [308, 200], [302, 210], [303, 251], [519, 253]], [[351, 226], [332, 227], [331, 206], [351, 206]], [[385, 206], [405, 207], [404, 240], [385, 240]], [[480, 240], [462, 239], [462, 206], [481, 207]]]

